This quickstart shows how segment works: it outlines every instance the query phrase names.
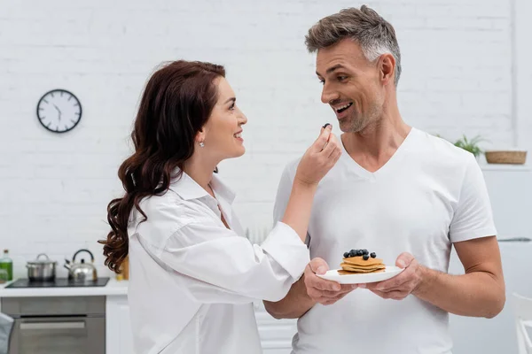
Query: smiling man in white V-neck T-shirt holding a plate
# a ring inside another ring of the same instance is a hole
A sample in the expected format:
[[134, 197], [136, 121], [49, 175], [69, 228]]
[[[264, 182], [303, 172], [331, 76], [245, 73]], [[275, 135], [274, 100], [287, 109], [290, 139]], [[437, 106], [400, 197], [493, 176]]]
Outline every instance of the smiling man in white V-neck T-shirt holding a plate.
[[[288, 295], [265, 302], [266, 309], [299, 318], [296, 354], [450, 353], [449, 312], [492, 318], [505, 304], [481, 169], [469, 152], [403, 121], [399, 46], [377, 12], [362, 6], [321, 19], [306, 44], [317, 51], [322, 102], [336, 114], [344, 150], [314, 199], [307, 239], [313, 259]], [[276, 219], [296, 166], [283, 173]], [[447, 273], [452, 245], [465, 274]], [[317, 277], [339, 268], [351, 249], [374, 251], [405, 269], [356, 291]]]

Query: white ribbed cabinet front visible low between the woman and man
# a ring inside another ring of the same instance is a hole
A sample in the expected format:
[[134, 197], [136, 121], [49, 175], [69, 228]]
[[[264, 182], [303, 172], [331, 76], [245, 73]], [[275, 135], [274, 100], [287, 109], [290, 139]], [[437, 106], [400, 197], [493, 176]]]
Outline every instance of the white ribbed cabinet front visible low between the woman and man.
[[297, 319], [274, 319], [266, 312], [262, 301], [254, 302], [254, 311], [264, 354], [290, 353]]

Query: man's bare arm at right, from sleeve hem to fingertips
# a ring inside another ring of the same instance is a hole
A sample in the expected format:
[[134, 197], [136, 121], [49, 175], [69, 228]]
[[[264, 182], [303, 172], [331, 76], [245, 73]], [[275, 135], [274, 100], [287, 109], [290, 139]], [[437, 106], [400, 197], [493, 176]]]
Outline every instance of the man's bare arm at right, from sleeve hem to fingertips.
[[383, 298], [401, 300], [412, 294], [462, 316], [493, 318], [505, 306], [505, 281], [497, 238], [482, 237], [456, 242], [465, 274], [451, 275], [419, 266], [411, 254], [397, 258], [403, 273], [366, 288]]

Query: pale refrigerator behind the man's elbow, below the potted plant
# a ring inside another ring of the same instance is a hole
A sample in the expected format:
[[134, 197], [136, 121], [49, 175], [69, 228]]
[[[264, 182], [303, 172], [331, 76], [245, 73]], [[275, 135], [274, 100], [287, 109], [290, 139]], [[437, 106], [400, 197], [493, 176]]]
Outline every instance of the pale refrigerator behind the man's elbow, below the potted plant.
[[[532, 297], [532, 170], [527, 165], [482, 165], [506, 285], [505, 309], [494, 319], [450, 315], [453, 354], [517, 354], [512, 293]], [[456, 252], [450, 273], [464, 273]]]

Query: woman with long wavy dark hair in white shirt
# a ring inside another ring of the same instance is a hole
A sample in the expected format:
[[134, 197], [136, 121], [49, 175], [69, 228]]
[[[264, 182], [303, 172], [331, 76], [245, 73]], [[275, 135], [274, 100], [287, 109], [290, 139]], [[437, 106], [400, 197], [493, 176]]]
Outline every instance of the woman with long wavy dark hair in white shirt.
[[[108, 205], [106, 266], [129, 254], [129, 306], [139, 354], [254, 354], [254, 299], [278, 301], [309, 263], [303, 243], [317, 183], [340, 157], [331, 127], [301, 158], [282, 222], [262, 246], [244, 236], [234, 194], [214, 174], [244, 154], [246, 116], [223, 66], [176, 61], [148, 81]], [[325, 125], [327, 126], [327, 125]]]

